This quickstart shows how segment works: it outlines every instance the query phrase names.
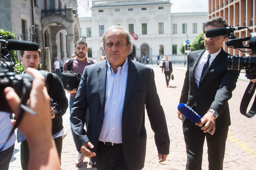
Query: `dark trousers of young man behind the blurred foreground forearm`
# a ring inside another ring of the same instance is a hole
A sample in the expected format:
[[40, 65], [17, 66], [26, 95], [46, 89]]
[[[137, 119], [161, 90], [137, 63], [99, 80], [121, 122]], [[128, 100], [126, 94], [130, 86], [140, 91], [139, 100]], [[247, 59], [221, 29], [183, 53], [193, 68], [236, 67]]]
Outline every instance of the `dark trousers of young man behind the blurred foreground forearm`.
[[[61, 161], [61, 151], [62, 151], [62, 136], [58, 138], [54, 138], [54, 142], [57, 148], [57, 152], [59, 155], [59, 160]], [[38, 146], [40, 147], [40, 146]], [[29, 146], [27, 145], [27, 141], [21, 142], [21, 167], [23, 170], [27, 170], [27, 166], [29, 164]]]

